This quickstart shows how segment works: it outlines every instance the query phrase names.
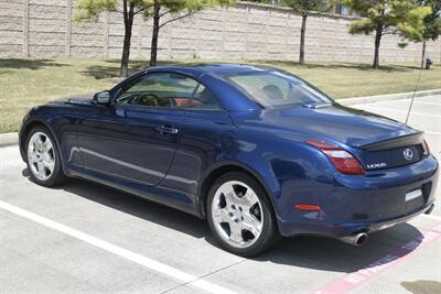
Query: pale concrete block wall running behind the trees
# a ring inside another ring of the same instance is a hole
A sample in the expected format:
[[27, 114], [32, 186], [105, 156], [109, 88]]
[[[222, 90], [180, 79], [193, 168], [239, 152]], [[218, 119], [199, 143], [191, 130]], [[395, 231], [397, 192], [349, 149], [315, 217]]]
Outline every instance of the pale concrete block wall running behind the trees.
[[[116, 57], [121, 55], [122, 18], [103, 13], [96, 22], [73, 21], [75, 0], [0, 0], [0, 56]], [[351, 35], [353, 21], [343, 15], [311, 15], [306, 24], [306, 61], [372, 62], [374, 37]], [[161, 29], [160, 59], [277, 59], [297, 61], [299, 15], [287, 9], [239, 2], [208, 9]], [[132, 58], [150, 56], [151, 20], [137, 15]], [[416, 62], [421, 44], [398, 47], [387, 35], [380, 58]], [[428, 55], [441, 62], [441, 40], [428, 45]]]

